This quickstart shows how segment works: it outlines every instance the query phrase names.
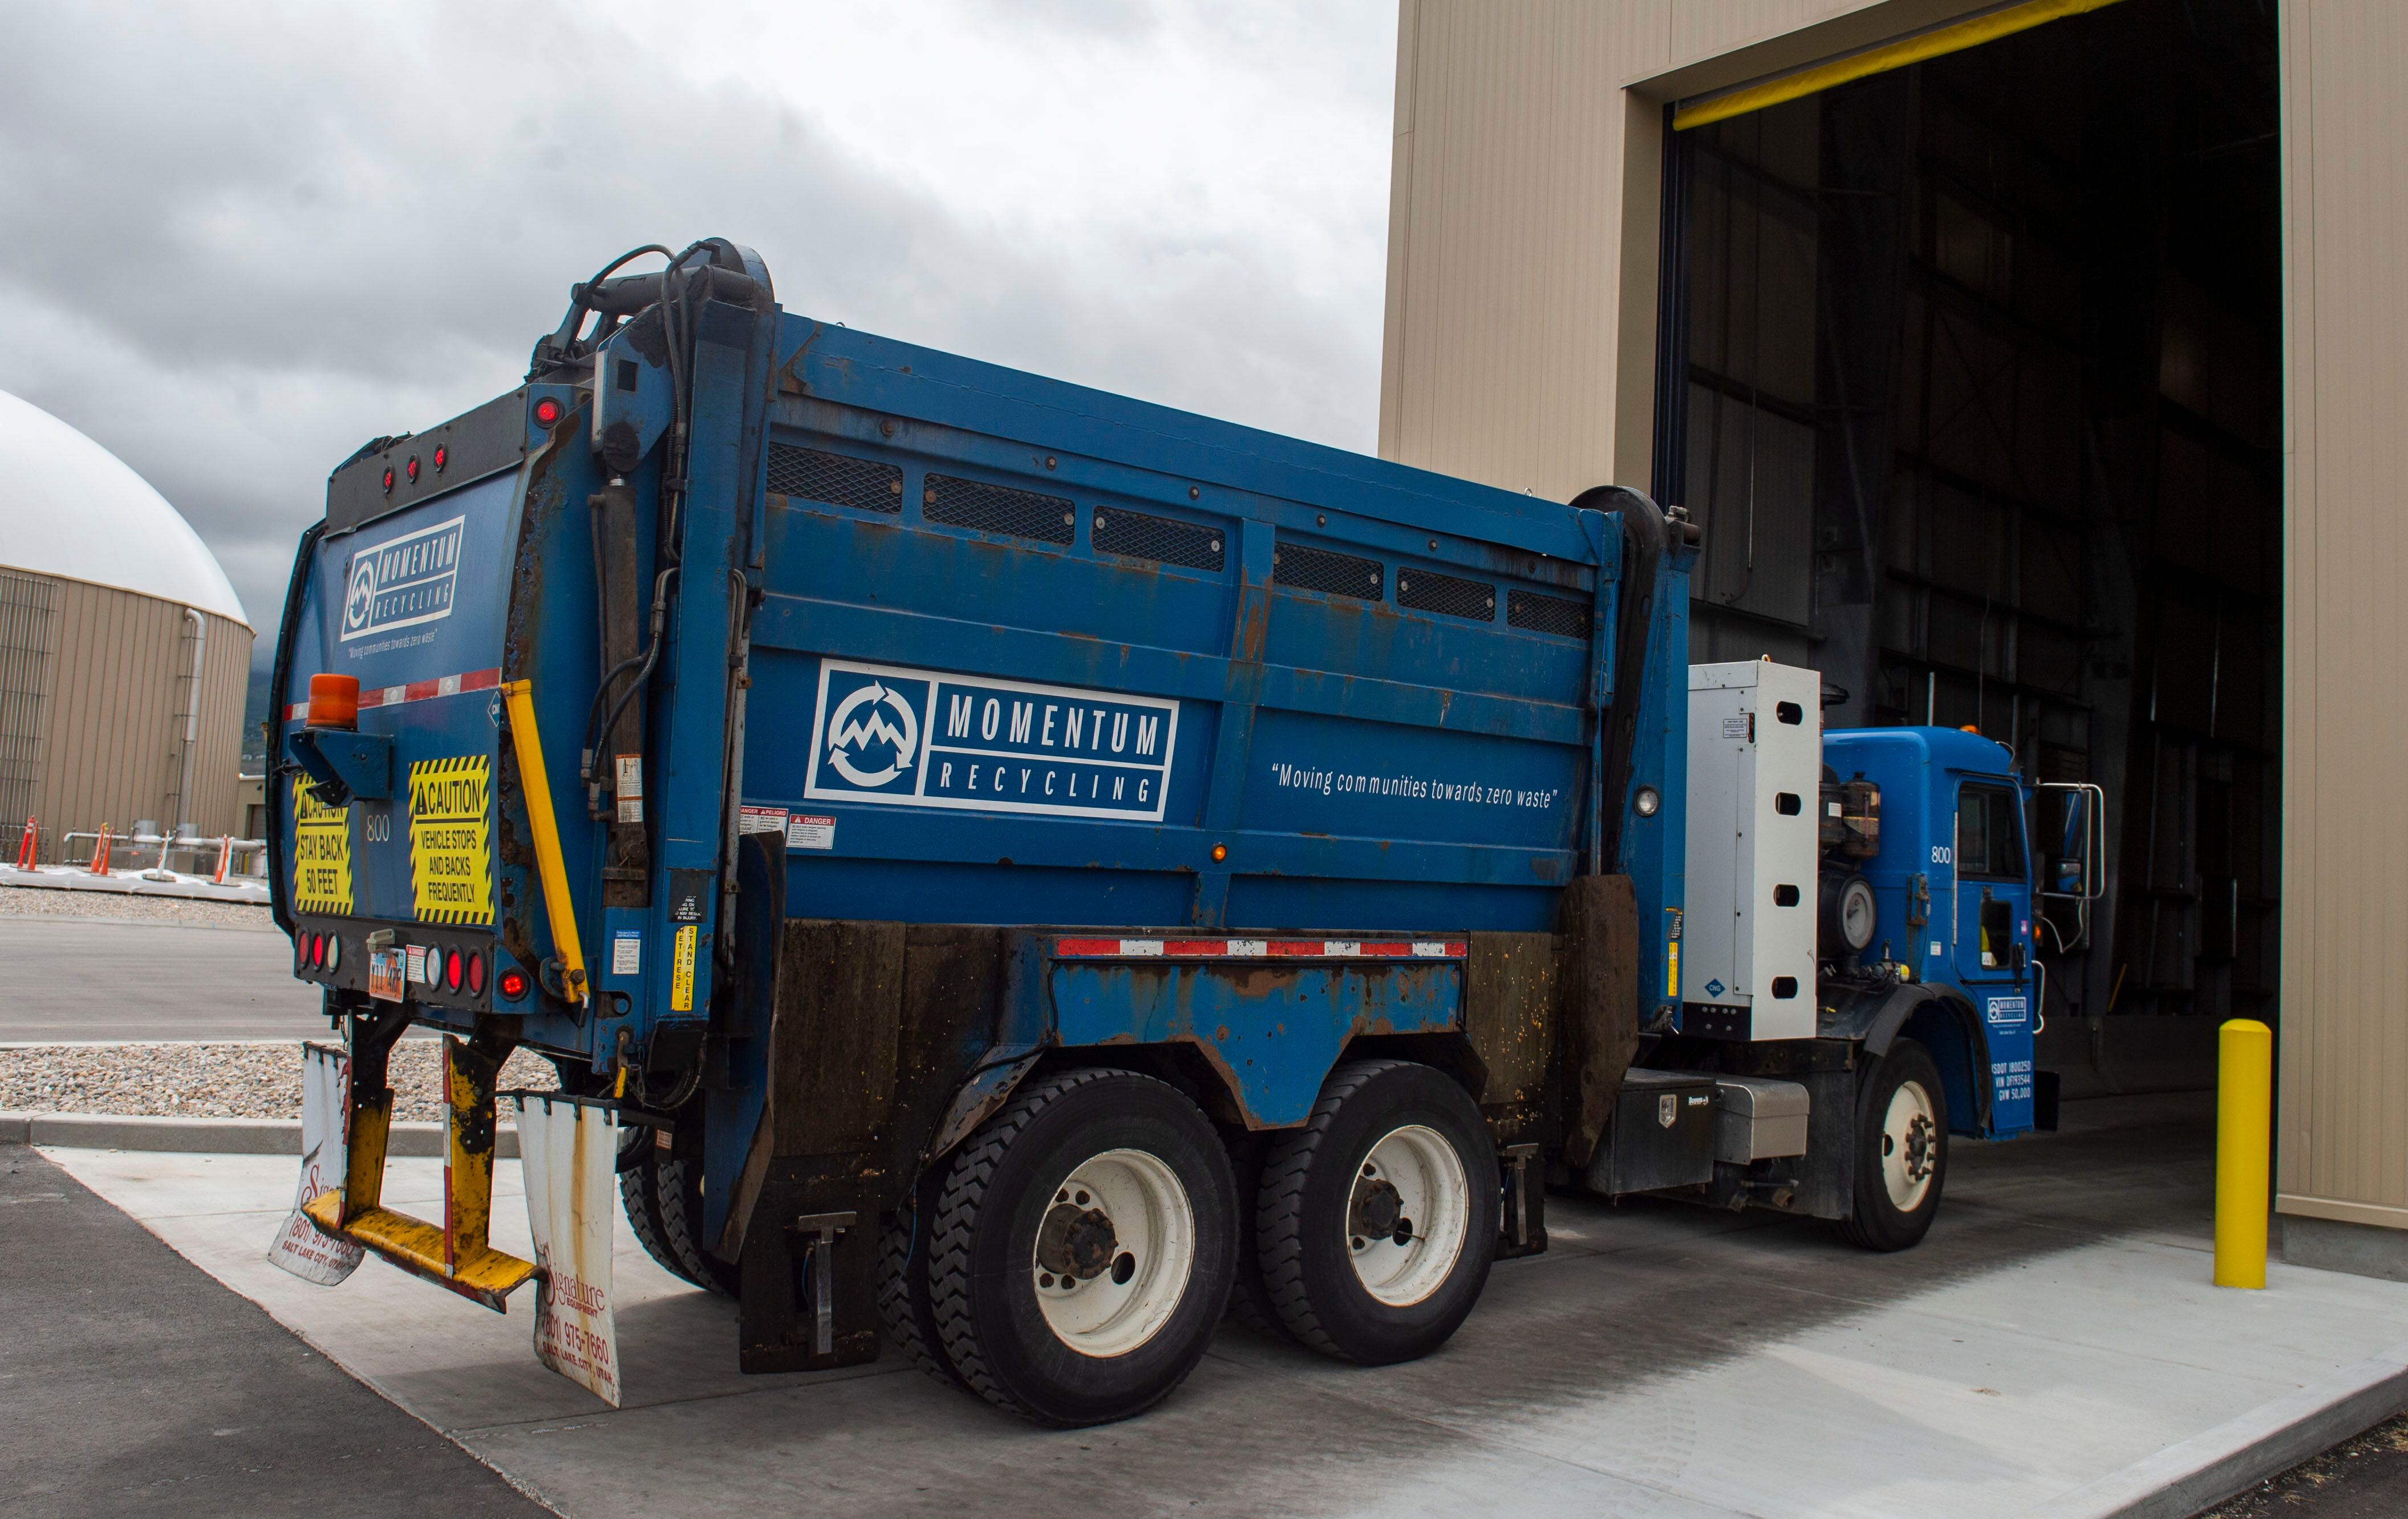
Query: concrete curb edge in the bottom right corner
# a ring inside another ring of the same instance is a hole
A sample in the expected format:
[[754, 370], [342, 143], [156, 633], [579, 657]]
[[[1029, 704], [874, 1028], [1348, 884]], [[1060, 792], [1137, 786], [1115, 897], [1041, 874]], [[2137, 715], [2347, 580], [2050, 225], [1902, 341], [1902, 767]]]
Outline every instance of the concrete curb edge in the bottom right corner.
[[2146, 1461], [2025, 1509], [2028, 1519], [2191, 1519], [2408, 1408], [2408, 1343], [2261, 1403]]

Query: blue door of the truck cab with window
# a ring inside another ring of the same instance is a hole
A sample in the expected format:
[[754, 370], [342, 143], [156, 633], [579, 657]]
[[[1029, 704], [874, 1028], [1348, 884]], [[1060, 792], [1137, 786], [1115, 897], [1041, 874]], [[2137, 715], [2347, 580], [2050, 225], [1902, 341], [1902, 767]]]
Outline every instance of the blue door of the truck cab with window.
[[1958, 782], [1955, 864], [1955, 973], [1989, 1038], [1994, 1131], [2013, 1134], [2032, 1122], [2032, 888], [2013, 780]]

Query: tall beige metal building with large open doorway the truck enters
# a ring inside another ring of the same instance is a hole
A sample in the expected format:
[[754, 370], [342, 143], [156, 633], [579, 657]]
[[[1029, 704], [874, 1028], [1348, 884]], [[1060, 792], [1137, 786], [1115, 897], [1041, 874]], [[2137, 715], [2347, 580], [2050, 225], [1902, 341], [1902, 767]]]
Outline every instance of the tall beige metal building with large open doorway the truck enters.
[[2109, 794], [2042, 1062], [2280, 1035], [2408, 1276], [2408, 7], [1404, 0], [1380, 453], [1705, 525], [1693, 657]]

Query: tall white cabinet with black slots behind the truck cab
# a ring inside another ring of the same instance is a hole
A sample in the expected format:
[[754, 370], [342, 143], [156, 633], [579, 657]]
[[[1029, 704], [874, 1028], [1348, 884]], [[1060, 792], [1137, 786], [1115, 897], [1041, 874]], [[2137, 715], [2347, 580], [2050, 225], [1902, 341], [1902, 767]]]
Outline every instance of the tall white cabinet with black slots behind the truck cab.
[[1820, 698], [1813, 669], [1688, 667], [1686, 1033], [1813, 1038]]

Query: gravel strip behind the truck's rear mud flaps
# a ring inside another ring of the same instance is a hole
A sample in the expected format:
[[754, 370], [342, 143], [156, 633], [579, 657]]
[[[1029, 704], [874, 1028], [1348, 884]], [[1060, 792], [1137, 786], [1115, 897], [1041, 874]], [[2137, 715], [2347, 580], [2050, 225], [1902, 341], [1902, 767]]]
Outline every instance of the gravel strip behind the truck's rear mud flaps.
[[[393, 1047], [393, 1117], [443, 1117], [441, 1040]], [[551, 1062], [518, 1050], [501, 1088], [556, 1091]], [[152, 1117], [301, 1117], [301, 1045], [39, 1045], [0, 1050], [0, 1110]], [[508, 1103], [503, 1105], [508, 1122]]]

